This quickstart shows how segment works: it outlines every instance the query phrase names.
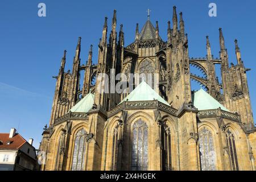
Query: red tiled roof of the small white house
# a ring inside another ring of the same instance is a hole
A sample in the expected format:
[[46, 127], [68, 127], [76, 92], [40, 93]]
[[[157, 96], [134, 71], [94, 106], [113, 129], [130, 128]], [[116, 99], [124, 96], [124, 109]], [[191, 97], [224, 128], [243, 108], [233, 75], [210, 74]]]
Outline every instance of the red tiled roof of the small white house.
[[[0, 150], [18, 150], [27, 141], [20, 136], [20, 134], [15, 134], [13, 138], [9, 138], [9, 133], [0, 133]], [[11, 142], [7, 144], [7, 142]]]

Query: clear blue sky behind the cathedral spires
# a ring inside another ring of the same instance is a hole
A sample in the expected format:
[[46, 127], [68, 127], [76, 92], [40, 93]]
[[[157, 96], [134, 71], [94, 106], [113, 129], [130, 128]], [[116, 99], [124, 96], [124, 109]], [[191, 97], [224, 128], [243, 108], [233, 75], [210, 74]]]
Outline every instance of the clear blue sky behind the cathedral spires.
[[[38, 3], [46, 3], [46, 18], [38, 17]], [[217, 4], [217, 17], [208, 16], [210, 2]], [[77, 38], [82, 37], [81, 63], [84, 64], [90, 44], [93, 61], [97, 60], [97, 44], [102, 34], [104, 17], [117, 10], [123, 24], [125, 45], [134, 40], [135, 26], [141, 30], [146, 10], [151, 9], [151, 22], [159, 21], [160, 36], [166, 40], [167, 22], [172, 7], [183, 11], [185, 31], [189, 39], [189, 56], [205, 57], [205, 36], [209, 35], [214, 57], [219, 57], [218, 28], [222, 27], [229, 63], [236, 64], [234, 39], [238, 39], [246, 68], [251, 103], [256, 111], [255, 7], [251, 1], [13, 1], [0, 2], [0, 133], [11, 127], [26, 139], [34, 138], [39, 146], [43, 126], [48, 124], [61, 56], [67, 49], [66, 69], [72, 69]]]

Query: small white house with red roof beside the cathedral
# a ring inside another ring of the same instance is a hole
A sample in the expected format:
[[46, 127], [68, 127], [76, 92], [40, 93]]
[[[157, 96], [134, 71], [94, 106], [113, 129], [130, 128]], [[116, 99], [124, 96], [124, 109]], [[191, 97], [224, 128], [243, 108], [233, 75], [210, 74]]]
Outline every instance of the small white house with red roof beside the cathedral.
[[0, 171], [24, 171], [36, 168], [36, 151], [15, 129], [0, 133]]

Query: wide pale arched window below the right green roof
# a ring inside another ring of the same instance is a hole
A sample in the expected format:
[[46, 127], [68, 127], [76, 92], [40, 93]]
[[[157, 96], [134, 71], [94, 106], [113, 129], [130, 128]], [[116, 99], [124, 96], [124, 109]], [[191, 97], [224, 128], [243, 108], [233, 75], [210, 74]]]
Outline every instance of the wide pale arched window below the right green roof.
[[216, 171], [216, 152], [214, 151], [213, 135], [203, 127], [199, 131], [199, 150], [202, 171]]

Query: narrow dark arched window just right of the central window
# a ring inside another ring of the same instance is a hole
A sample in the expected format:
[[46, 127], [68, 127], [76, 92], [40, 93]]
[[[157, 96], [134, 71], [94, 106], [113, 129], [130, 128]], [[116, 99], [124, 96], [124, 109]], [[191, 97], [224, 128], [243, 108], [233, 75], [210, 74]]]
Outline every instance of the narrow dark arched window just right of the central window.
[[162, 159], [163, 159], [163, 169], [165, 171], [171, 171], [172, 169], [172, 164], [171, 164], [171, 132], [170, 132], [170, 127], [167, 125], [162, 126], [162, 145], [163, 145], [163, 154], [162, 154]]

